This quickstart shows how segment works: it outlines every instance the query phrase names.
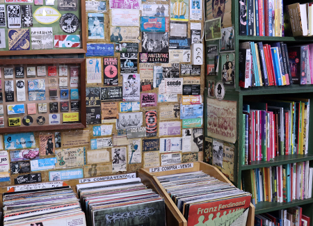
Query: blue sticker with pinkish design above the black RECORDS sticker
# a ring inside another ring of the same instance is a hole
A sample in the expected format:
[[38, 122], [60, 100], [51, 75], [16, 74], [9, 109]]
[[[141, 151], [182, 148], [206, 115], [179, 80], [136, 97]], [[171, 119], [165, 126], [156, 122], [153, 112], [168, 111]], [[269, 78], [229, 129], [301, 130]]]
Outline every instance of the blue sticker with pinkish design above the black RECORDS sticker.
[[167, 32], [166, 17], [141, 17], [141, 31]]

